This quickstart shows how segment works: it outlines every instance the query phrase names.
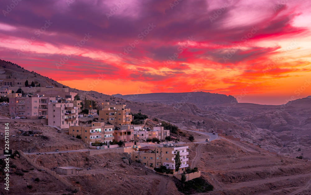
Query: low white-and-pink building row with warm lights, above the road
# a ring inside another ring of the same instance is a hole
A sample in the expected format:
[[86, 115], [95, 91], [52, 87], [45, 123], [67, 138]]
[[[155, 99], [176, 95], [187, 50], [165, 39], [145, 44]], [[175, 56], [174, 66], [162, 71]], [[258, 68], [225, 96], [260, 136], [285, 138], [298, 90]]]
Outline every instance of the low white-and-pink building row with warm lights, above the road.
[[165, 140], [166, 136], [169, 136], [169, 130], [164, 130], [163, 126], [156, 126], [151, 129], [139, 129], [134, 131], [134, 135], [136, 135], [139, 139], [145, 140], [157, 138], [159, 140]]

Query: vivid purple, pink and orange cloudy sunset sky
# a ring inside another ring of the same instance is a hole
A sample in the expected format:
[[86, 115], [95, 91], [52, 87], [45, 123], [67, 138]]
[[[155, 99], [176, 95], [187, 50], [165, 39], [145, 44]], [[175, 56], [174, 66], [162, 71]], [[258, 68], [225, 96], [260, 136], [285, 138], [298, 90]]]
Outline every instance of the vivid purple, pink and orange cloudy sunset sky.
[[2, 0], [0, 58], [109, 95], [206, 91], [283, 104], [311, 95], [310, 7], [306, 0]]

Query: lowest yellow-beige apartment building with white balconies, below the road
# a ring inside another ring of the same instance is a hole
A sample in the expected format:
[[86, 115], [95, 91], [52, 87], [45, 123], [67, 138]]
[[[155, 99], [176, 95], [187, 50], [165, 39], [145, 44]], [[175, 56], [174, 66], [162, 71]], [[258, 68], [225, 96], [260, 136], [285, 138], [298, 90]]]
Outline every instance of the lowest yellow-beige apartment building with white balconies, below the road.
[[131, 153], [131, 160], [140, 160], [146, 166], [160, 167], [161, 165], [166, 166], [171, 172], [175, 172], [175, 157], [177, 151], [179, 151], [181, 166], [179, 167], [180, 172], [183, 172], [188, 167], [187, 152], [188, 146], [173, 146], [172, 144], [164, 144], [158, 146], [154, 150], [143, 150], [144, 147], [140, 148], [138, 152]]

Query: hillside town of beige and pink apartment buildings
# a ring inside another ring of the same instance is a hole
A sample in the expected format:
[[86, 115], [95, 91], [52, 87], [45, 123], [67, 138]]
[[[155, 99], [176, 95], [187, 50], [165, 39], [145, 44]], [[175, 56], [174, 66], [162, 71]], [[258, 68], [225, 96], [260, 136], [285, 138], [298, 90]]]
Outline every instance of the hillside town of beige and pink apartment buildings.
[[[170, 130], [165, 129], [161, 122], [146, 126], [147, 116], [136, 119], [141, 124], [132, 124], [135, 118], [125, 103], [104, 102], [93, 109], [93, 103], [98, 103], [91, 101], [88, 108], [79, 95], [69, 92], [68, 88], [43, 87], [35, 80], [15, 79], [4, 74], [4, 69], [0, 73], [1, 106], [9, 107], [9, 115], [14, 122], [53, 127], [59, 133], [81, 140], [88, 147], [89, 154], [122, 148], [128, 154], [128, 160], [159, 174], [172, 174], [185, 181], [201, 176], [197, 168], [188, 166], [188, 146], [178, 145], [178, 139], [171, 136]], [[39, 129], [20, 130], [16, 135], [38, 136], [42, 132]], [[87, 171], [66, 166], [58, 167], [56, 173], [79, 175]]]

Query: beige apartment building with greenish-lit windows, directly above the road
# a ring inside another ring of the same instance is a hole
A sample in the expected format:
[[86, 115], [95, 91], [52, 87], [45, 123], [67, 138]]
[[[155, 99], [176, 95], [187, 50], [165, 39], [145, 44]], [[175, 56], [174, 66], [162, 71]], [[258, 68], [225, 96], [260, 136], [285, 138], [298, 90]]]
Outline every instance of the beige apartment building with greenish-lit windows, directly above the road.
[[104, 122], [92, 122], [90, 126], [70, 126], [69, 135], [72, 137], [81, 136], [81, 140], [89, 146], [95, 141], [106, 143], [110, 145], [110, 142], [114, 139], [114, 126], [105, 125]]

